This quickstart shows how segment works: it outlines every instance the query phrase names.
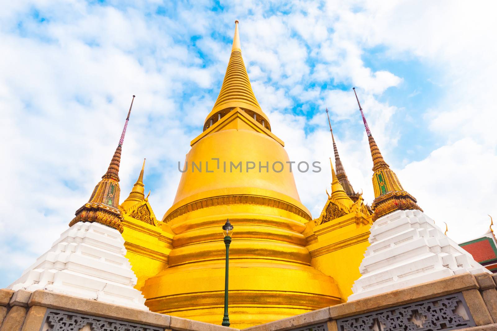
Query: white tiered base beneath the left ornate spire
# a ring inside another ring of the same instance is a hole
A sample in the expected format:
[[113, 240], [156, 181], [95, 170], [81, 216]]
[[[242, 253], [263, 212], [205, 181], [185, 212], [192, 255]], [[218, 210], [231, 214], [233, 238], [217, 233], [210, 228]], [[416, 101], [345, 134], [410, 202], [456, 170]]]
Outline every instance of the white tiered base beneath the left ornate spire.
[[137, 278], [125, 254], [118, 230], [78, 222], [8, 288], [48, 290], [148, 310], [142, 293], [134, 288]]

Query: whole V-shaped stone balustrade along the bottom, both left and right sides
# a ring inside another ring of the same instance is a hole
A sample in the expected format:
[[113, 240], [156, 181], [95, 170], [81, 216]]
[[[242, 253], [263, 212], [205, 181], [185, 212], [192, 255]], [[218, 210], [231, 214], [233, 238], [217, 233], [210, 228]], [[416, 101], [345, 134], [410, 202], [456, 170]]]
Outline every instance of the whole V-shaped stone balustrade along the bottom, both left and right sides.
[[[243, 331], [497, 331], [496, 280], [465, 273]], [[49, 291], [0, 290], [0, 331], [53, 330], [238, 331]]]

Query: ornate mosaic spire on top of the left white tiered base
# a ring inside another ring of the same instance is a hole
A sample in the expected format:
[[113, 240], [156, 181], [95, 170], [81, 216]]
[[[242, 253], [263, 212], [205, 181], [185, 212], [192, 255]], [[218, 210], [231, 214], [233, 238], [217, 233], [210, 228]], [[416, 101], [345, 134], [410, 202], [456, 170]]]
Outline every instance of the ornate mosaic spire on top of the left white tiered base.
[[121, 149], [124, 142], [124, 135], [128, 127], [131, 108], [133, 107], [133, 99], [129, 107], [128, 116], [124, 123], [123, 132], [117, 145], [114, 156], [110, 161], [107, 172], [102, 176], [102, 180], [98, 182], [91, 194], [90, 199], [81, 208], [76, 210], [76, 217], [69, 223], [72, 226], [78, 222], [97, 222], [123, 232], [121, 221], [123, 216], [119, 210], [119, 164], [121, 162]]

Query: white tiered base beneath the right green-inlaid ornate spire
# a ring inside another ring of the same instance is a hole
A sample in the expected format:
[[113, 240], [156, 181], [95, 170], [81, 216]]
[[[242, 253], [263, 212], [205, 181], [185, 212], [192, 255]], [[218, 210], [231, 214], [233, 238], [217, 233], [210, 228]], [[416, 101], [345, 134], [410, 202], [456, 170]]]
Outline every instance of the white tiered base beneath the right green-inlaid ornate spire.
[[369, 242], [348, 301], [465, 272], [491, 273], [419, 210], [378, 218]]

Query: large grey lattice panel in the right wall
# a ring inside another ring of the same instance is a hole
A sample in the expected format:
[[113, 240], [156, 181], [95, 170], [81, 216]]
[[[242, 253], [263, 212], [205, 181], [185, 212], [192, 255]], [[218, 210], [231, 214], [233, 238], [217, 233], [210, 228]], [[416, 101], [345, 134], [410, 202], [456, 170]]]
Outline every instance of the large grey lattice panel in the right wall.
[[337, 320], [338, 331], [435, 331], [476, 326], [462, 293]]

